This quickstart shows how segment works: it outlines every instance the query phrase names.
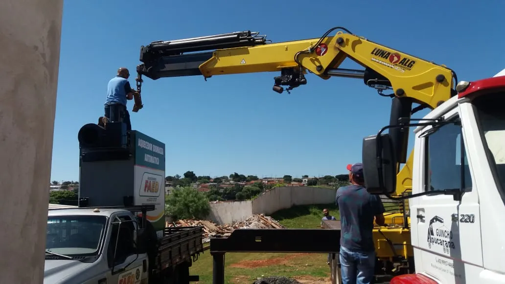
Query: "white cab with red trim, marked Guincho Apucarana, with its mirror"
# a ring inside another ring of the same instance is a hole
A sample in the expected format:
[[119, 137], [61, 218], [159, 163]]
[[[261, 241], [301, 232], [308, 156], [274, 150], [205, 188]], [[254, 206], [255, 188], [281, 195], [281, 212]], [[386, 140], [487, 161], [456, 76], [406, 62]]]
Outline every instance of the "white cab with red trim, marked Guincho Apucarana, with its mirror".
[[[460, 82], [457, 90], [415, 129], [409, 205], [416, 274], [392, 284], [505, 283], [505, 76]], [[364, 140], [365, 179], [372, 190], [392, 193], [388, 162], [395, 157], [383, 136], [382, 149], [375, 147], [379, 135]], [[373, 164], [370, 154], [380, 152], [382, 162]]]

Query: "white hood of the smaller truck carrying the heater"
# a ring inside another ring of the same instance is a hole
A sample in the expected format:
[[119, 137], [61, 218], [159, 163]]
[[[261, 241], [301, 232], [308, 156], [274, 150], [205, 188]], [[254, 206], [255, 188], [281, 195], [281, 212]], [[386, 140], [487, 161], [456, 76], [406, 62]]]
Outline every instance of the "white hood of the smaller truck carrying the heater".
[[71, 259], [46, 259], [44, 262], [44, 284], [65, 283], [67, 278], [85, 270], [92, 263]]

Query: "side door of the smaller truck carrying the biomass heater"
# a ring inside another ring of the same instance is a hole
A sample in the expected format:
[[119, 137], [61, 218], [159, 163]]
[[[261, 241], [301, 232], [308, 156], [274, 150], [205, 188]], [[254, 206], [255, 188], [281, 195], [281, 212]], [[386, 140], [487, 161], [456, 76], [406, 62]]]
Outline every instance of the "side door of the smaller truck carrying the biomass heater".
[[[120, 219], [122, 222], [119, 223]], [[135, 224], [130, 215], [118, 215], [111, 220], [111, 238], [107, 248], [108, 283], [139, 284], [147, 278], [143, 271], [144, 254], [138, 254], [134, 244]], [[109, 282], [110, 280], [110, 282]]]

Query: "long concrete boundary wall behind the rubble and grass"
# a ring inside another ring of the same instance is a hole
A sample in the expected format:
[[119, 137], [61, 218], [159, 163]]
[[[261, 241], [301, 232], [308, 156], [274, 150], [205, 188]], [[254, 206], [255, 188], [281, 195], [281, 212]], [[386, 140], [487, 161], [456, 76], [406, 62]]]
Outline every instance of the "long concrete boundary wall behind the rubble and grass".
[[328, 204], [335, 202], [334, 189], [316, 187], [277, 187], [255, 200], [228, 201], [211, 204], [207, 219], [218, 224], [242, 221], [252, 214], [271, 215], [294, 205]]

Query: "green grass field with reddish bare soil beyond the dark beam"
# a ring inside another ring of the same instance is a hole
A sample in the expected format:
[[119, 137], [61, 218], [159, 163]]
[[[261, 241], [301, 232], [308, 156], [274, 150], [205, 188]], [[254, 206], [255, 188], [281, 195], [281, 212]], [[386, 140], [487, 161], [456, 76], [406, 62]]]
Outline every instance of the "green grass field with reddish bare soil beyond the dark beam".
[[[272, 215], [286, 228], [320, 228], [323, 208], [338, 218], [335, 205], [294, 206]], [[312, 240], [317, 241], [317, 240]], [[225, 282], [252, 283], [257, 277], [288, 276], [305, 283], [329, 283], [330, 268], [327, 254], [288, 253], [227, 253], [225, 254]], [[209, 250], [200, 254], [190, 269], [199, 275], [196, 283], [212, 283], [212, 256]]]

